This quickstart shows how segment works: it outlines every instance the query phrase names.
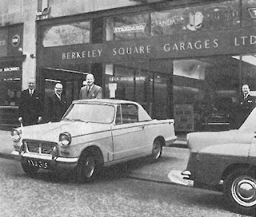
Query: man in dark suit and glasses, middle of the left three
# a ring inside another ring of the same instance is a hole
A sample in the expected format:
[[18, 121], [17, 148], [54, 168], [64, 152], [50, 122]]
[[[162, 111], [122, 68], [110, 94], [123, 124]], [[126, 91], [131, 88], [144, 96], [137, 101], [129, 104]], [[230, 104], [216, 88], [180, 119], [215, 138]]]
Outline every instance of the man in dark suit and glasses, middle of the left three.
[[54, 93], [46, 100], [46, 121], [57, 122], [62, 119], [66, 112], [66, 100], [62, 96], [63, 86], [57, 83], [54, 87]]

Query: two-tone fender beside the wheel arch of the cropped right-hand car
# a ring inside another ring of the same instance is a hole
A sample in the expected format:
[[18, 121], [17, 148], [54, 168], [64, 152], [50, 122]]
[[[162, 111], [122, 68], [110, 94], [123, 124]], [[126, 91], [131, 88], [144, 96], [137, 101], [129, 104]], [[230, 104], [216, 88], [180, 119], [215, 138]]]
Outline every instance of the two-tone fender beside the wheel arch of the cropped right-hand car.
[[198, 152], [196, 180], [208, 185], [218, 185], [223, 172], [232, 164], [248, 164], [250, 144], [214, 144]]

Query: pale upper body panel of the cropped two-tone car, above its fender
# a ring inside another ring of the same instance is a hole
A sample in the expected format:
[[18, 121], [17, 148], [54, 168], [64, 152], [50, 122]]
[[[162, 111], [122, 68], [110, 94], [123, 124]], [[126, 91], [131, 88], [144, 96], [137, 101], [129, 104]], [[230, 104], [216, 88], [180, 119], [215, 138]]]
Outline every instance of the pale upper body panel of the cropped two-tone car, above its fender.
[[250, 144], [254, 134], [240, 130], [223, 132], [191, 132], [187, 135], [191, 152], [199, 152], [202, 148], [217, 144]]

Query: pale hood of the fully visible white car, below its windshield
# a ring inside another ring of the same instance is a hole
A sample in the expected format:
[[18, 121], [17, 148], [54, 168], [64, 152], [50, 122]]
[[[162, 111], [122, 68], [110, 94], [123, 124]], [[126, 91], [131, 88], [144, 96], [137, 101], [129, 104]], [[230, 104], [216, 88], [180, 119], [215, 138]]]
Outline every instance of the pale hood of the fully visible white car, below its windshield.
[[62, 132], [69, 132], [72, 137], [101, 132], [110, 128], [110, 124], [98, 124], [82, 121], [67, 121], [36, 124], [22, 128], [22, 139], [47, 140], [58, 142], [58, 136]]

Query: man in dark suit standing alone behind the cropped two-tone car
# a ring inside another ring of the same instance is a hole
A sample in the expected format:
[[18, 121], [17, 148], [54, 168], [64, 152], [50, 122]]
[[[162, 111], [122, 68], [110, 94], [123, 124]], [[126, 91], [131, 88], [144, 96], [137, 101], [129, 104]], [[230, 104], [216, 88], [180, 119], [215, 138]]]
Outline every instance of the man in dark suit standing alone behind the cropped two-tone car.
[[255, 97], [250, 95], [249, 85], [242, 85], [242, 95], [239, 100], [239, 125], [241, 125], [250, 115], [250, 112], [255, 107]]

